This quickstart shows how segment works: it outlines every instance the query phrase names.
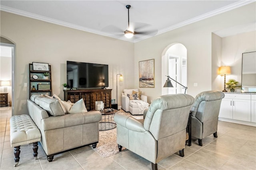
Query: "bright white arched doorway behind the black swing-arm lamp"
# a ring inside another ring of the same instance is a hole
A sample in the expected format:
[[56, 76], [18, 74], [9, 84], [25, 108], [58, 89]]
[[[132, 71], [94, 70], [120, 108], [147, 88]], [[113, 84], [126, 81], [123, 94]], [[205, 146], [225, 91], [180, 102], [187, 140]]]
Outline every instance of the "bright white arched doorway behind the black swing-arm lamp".
[[[170, 44], [162, 53], [162, 86], [167, 75], [187, 86], [187, 49], [181, 43]], [[162, 88], [162, 95], [184, 93], [184, 88], [173, 80], [172, 85], [173, 88]]]

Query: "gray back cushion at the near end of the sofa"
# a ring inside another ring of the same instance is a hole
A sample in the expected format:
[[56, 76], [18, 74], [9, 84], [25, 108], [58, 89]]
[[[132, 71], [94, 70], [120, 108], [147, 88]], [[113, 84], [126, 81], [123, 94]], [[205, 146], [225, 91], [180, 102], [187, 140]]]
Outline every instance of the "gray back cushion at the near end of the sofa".
[[46, 110], [52, 116], [65, 115], [60, 102], [57, 99], [47, 98], [47, 97], [37, 97], [36, 101], [39, 101], [39, 106]]

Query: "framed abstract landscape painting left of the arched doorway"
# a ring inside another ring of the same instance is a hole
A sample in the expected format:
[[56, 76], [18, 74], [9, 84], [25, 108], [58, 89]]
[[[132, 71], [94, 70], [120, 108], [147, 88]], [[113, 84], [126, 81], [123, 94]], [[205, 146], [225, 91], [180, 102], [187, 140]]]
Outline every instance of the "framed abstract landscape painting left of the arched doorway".
[[139, 61], [139, 87], [155, 87], [155, 59]]

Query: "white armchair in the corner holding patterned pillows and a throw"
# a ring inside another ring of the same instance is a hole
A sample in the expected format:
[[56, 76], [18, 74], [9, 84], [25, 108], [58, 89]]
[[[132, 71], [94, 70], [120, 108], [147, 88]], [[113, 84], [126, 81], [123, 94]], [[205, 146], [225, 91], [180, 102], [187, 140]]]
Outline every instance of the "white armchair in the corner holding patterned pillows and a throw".
[[143, 111], [140, 111], [138, 104], [135, 101], [143, 101], [146, 102], [145, 105], [148, 106], [148, 97], [145, 95], [140, 96], [140, 100], [130, 100], [127, 94], [131, 94], [132, 92], [140, 92], [138, 89], [124, 89], [121, 96], [121, 107], [124, 111], [130, 112], [132, 115], [143, 115]]

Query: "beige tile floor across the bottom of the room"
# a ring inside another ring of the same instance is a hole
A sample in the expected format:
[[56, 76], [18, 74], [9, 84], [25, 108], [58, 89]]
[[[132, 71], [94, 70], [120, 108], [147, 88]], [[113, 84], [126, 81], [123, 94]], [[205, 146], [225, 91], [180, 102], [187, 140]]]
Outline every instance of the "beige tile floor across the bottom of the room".
[[[42, 147], [34, 160], [32, 146], [21, 146], [20, 163], [14, 167], [13, 148], [10, 147], [10, 110], [0, 111], [0, 170], [151, 170], [148, 160], [126, 150], [108, 158], [102, 158], [90, 147], [54, 156], [48, 162]], [[219, 121], [218, 138], [213, 135], [203, 139], [203, 147], [197, 141], [186, 146], [185, 156], [178, 153], [158, 163], [159, 170], [255, 170], [256, 127]]]

